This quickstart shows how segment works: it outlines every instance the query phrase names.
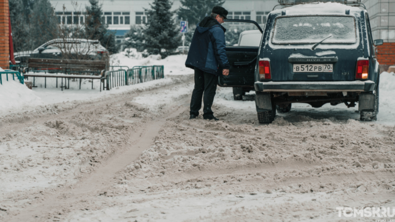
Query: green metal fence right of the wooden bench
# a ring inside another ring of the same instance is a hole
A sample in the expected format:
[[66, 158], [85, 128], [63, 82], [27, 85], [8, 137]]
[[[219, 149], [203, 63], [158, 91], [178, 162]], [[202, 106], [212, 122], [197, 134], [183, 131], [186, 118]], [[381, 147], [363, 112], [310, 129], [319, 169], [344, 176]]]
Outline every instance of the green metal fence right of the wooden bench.
[[[106, 72], [107, 90], [118, 86], [145, 83], [164, 77], [164, 66], [135, 66], [132, 69]], [[103, 90], [105, 89], [103, 81]]]

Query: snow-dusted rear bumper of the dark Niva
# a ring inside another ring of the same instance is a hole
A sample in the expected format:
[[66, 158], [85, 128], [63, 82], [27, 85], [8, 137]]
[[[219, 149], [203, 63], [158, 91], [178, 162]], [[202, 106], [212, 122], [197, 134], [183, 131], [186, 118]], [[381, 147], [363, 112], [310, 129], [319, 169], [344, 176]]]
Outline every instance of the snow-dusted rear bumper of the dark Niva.
[[369, 92], [376, 84], [371, 80], [343, 82], [255, 82], [258, 92]]

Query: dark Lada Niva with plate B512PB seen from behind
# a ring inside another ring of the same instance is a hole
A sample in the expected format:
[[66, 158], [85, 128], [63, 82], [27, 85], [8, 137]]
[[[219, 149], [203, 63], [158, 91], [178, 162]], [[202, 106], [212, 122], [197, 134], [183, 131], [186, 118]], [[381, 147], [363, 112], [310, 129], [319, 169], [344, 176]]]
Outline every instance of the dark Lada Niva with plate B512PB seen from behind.
[[376, 46], [382, 44], [382, 39], [373, 41], [368, 13], [359, 7], [311, 3], [277, 9], [267, 17], [258, 49], [239, 48], [236, 55], [227, 47], [230, 61], [232, 56], [249, 58], [254, 69], [240, 66], [248, 62], [233, 62], [229, 77], [221, 76], [219, 83], [240, 86], [240, 81], [231, 80], [232, 73], [239, 73], [243, 87], [253, 86], [260, 123], [271, 123], [276, 111], [289, 112], [292, 103], [314, 108], [358, 103], [362, 121], [376, 120], [380, 82]]

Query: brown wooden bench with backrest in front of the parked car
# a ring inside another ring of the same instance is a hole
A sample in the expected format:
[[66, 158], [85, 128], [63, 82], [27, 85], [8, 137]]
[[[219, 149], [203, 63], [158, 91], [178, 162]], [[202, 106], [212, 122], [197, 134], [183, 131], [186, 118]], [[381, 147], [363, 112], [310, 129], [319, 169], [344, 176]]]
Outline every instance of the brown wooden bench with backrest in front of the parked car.
[[[47, 58], [29, 58], [28, 67], [24, 68], [24, 76], [25, 77], [33, 77], [33, 87], [35, 86], [35, 77], [44, 77], [45, 84], [44, 87], [47, 88], [47, 77], [48, 78], [56, 78], [56, 88], [57, 88], [57, 78], [62, 79], [62, 91], [63, 88], [70, 88], [70, 78], [79, 78], [80, 79], [80, 89], [81, 89], [81, 80], [82, 79], [92, 79], [92, 89], [93, 89], [93, 79], [103, 79], [106, 69], [106, 61], [102, 60], [78, 60], [78, 59], [47, 59]], [[48, 71], [62, 71], [65, 74], [50, 74], [46, 73]], [[45, 72], [45, 74], [41, 73], [29, 73], [32, 72]], [[67, 72], [95, 72], [100, 73], [100, 75], [75, 75], [75, 74], [67, 74]], [[65, 79], [65, 86], [63, 86], [63, 79]], [[68, 85], [66, 79], [68, 79]], [[102, 88], [100, 87], [100, 91]]]

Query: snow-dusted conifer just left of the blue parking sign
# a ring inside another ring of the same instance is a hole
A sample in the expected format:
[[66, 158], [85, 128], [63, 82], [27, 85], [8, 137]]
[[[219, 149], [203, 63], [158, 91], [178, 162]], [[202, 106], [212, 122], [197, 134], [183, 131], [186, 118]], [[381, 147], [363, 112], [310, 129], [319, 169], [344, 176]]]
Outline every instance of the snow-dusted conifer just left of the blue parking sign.
[[165, 58], [181, 42], [181, 35], [174, 23], [169, 0], [154, 0], [148, 10], [147, 28], [144, 30], [145, 48], [149, 54]]

